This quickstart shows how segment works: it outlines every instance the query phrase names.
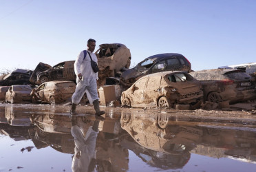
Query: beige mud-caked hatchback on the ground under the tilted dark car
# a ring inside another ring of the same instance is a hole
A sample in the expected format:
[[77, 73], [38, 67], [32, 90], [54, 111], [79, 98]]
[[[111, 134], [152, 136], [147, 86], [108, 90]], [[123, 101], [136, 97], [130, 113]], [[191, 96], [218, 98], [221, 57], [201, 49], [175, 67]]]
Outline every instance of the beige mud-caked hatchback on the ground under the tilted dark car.
[[201, 85], [187, 72], [158, 72], [143, 76], [122, 92], [122, 105], [131, 107], [173, 107], [177, 104], [199, 103]]

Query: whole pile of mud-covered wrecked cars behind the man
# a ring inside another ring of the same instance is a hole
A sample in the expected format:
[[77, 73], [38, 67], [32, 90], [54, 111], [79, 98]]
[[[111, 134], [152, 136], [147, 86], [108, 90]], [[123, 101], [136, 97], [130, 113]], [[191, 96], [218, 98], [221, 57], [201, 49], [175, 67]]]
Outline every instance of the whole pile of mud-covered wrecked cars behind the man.
[[[256, 99], [256, 63], [193, 71], [182, 54], [165, 53], [149, 56], [129, 69], [131, 52], [123, 44], [101, 44], [95, 54], [100, 68], [97, 84], [102, 105], [118, 101], [125, 107], [177, 109], [185, 105], [198, 109], [205, 102], [229, 105]], [[26, 101], [59, 104], [70, 100], [75, 88], [74, 61], [53, 67], [39, 63], [34, 72], [17, 69], [2, 76], [0, 100], [21, 103], [23, 99], [18, 95], [28, 94], [30, 89]]]

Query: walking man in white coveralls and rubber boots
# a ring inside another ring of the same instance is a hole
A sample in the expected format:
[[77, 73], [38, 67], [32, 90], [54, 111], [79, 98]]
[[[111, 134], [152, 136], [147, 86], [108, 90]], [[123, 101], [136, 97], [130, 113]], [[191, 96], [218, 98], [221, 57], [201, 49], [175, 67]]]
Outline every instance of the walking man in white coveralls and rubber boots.
[[[87, 50], [82, 51], [74, 63], [74, 71], [76, 74], [76, 91], [72, 96], [71, 113], [76, 111], [76, 105], [81, 101], [83, 95], [87, 94], [89, 103], [94, 105], [96, 111], [95, 115], [100, 116], [105, 114], [105, 111], [100, 111], [98, 102], [97, 83], [98, 72], [94, 72], [91, 65], [91, 58], [96, 63], [98, 62], [97, 56], [93, 53], [96, 46], [94, 39], [87, 41]], [[90, 58], [91, 57], [91, 58]]]

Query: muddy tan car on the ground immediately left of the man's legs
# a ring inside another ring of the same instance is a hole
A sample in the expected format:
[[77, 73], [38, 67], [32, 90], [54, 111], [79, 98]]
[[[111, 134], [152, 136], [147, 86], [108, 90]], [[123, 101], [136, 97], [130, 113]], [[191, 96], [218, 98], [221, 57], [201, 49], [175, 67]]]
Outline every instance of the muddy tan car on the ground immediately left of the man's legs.
[[69, 80], [45, 82], [31, 92], [33, 103], [63, 103], [72, 97], [76, 84]]

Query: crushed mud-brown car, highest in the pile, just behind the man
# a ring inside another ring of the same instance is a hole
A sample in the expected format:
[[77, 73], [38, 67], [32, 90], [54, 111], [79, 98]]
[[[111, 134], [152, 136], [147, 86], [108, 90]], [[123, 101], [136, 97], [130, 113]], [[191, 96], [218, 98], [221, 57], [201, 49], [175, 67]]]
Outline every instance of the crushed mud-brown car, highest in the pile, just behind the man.
[[106, 77], [114, 77], [122, 67], [131, 65], [131, 52], [121, 43], [105, 43], [99, 45], [95, 54], [98, 58], [98, 85], [105, 84]]

